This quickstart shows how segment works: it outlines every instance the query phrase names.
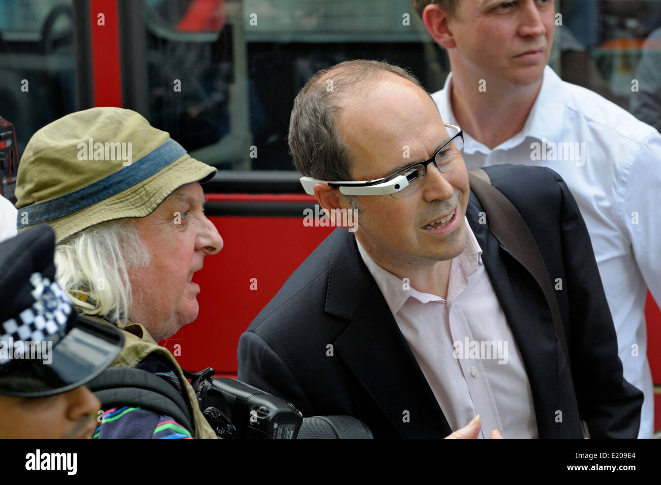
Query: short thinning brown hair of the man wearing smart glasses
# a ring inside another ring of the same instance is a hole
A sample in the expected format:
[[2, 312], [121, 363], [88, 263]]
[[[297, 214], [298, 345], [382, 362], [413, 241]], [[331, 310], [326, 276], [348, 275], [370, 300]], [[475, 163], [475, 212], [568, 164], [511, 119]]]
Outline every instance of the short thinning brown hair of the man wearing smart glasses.
[[335, 126], [336, 113], [346, 96], [359, 94], [386, 72], [408, 79], [424, 91], [405, 69], [373, 60], [340, 62], [305, 83], [293, 102], [288, 136], [299, 172], [321, 180], [350, 180], [349, 154]]

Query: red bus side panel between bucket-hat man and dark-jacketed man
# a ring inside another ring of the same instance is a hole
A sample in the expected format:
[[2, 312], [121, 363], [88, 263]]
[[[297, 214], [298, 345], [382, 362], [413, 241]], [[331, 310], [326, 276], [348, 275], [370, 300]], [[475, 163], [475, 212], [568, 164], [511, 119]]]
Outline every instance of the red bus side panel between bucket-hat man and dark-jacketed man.
[[193, 279], [202, 288], [200, 314], [160, 343], [184, 369], [214, 367], [218, 374], [236, 374], [241, 333], [334, 228], [305, 227], [302, 216], [210, 219], [224, 245], [219, 254], [204, 258], [204, 269]]

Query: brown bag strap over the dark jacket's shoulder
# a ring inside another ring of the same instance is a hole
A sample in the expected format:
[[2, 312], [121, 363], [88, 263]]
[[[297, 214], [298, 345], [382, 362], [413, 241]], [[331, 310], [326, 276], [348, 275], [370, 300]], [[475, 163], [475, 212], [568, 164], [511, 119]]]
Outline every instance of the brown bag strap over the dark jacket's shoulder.
[[551, 309], [551, 316], [553, 316], [555, 333], [563, 347], [564, 358], [569, 366], [569, 352], [564, 337], [560, 308], [535, 238], [516, 207], [496, 187], [491, 185], [491, 181], [483, 169], [469, 171], [469, 181], [471, 189], [480, 199], [488, 214], [489, 229], [492, 234], [535, 277], [537, 284], [544, 292]]

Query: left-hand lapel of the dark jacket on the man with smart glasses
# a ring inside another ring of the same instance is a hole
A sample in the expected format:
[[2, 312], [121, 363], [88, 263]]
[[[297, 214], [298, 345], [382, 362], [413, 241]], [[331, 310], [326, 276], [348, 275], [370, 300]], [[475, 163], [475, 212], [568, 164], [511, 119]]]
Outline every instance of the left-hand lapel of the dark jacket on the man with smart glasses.
[[[338, 354], [402, 437], [451, 430], [351, 234], [334, 245], [326, 311], [349, 320]], [[406, 418], [406, 419], [405, 419]]]

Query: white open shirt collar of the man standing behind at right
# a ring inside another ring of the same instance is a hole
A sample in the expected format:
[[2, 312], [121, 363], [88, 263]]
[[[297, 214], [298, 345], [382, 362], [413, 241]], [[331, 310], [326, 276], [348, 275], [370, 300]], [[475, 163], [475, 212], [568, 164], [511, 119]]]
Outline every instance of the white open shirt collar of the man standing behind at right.
[[[450, 72], [447, 75], [443, 91], [436, 93], [433, 98], [444, 122], [457, 124], [457, 118], [452, 111], [451, 92], [452, 73]], [[494, 150], [508, 150], [520, 145], [527, 137], [535, 138], [540, 142], [558, 140], [563, 130], [564, 106], [563, 81], [551, 67], [545, 66], [541, 89], [527, 120], [525, 120], [524, 128]], [[488, 154], [491, 152], [469, 134], [464, 133], [463, 137], [465, 153], [483, 152]]]

